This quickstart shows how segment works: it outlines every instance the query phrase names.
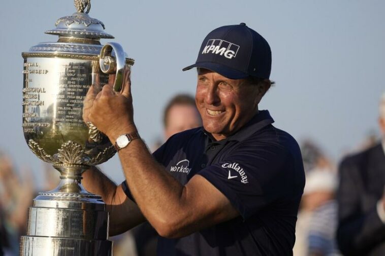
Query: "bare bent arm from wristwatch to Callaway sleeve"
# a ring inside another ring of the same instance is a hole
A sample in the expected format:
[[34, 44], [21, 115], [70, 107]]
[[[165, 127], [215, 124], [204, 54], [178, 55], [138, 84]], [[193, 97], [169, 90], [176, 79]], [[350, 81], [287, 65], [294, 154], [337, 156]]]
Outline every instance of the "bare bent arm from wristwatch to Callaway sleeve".
[[153, 159], [141, 139], [120, 150], [119, 157], [135, 201], [161, 236], [183, 237], [239, 215], [204, 177], [194, 175], [181, 185]]

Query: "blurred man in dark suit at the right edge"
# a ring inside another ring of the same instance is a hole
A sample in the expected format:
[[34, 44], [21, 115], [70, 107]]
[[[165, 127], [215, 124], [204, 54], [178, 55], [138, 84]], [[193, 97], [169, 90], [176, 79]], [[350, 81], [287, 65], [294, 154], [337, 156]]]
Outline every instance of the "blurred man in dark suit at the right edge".
[[385, 255], [385, 94], [382, 141], [340, 164], [338, 244], [344, 255]]

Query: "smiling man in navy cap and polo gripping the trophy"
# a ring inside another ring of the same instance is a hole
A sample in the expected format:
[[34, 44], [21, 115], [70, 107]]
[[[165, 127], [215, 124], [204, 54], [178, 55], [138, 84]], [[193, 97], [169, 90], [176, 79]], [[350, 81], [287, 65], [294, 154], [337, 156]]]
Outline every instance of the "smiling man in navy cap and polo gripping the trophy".
[[129, 73], [121, 94], [106, 85], [92, 100], [91, 87], [84, 119], [118, 140], [126, 180], [116, 187], [89, 170], [86, 189], [108, 204], [112, 235], [147, 220], [159, 255], [292, 255], [304, 171], [295, 139], [258, 109], [271, 85], [268, 43], [244, 23], [219, 27], [192, 67], [203, 127], [153, 156], [138, 138]]

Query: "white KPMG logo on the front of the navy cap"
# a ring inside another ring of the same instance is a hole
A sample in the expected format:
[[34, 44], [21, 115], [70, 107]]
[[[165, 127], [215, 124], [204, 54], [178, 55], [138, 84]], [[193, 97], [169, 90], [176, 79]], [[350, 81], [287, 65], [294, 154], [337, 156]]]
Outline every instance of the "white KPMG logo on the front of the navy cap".
[[239, 45], [221, 40], [221, 39], [210, 39], [205, 48], [202, 51], [202, 54], [212, 53], [219, 54], [228, 59], [235, 58], [239, 50]]

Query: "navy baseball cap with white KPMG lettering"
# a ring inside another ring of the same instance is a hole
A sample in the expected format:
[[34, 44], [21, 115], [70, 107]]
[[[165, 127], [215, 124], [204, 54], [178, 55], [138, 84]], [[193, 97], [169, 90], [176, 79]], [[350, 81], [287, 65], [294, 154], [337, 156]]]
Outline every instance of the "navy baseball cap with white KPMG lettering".
[[269, 79], [271, 50], [267, 41], [245, 23], [222, 26], [211, 31], [202, 43], [195, 64], [230, 79], [248, 76]]

